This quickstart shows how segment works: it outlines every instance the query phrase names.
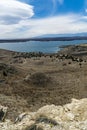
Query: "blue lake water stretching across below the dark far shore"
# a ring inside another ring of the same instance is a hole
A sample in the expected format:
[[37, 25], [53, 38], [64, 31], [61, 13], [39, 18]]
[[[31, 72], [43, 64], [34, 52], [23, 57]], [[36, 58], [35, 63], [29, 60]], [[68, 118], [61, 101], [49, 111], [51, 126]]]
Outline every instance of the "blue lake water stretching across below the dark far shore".
[[74, 41], [27, 41], [16, 43], [0, 43], [1, 49], [13, 50], [17, 52], [44, 52], [56, 53], [60, 50], [61, 45], [74, 45], [87, 43], [87, 40], [74, 40]]

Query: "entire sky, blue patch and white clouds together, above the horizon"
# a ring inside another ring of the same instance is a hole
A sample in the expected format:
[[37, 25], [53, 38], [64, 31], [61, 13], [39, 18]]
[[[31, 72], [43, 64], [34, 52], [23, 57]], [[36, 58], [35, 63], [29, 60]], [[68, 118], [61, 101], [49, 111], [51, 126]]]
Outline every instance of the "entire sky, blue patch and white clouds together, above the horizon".
[[0, 39], [87, 33], [87, 0], [0, 0]]

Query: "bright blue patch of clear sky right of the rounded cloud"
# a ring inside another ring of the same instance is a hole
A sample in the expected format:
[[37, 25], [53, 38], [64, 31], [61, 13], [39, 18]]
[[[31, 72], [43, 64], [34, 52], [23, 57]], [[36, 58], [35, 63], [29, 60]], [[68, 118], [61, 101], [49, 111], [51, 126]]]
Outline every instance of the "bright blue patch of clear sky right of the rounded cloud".
[[20, 0], [34, 6], [34, 17], [66, 13], [85, 13], [85, 0]]

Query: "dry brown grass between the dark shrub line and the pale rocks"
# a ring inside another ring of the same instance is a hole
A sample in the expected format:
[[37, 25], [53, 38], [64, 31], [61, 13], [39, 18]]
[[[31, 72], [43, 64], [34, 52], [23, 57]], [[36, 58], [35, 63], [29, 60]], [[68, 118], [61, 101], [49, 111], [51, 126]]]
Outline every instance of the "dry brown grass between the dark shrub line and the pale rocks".
[[[17, 109], [36, 111], [47, 104], [64, 105], [71, 102], [72, 98], [87, 97], [87, 62], [82, 62], [80, 68], [79, 63], [70, 59], [60, 60], [54, 55], [24, 58], [24, 63], [10, 65], [13, 53], [0, 53], [4, 56], [0, 62], [17, 70], [17, 73], [8, 71], [7, 76], [0, 71], [0, 80], [3, 80], [0, 82], [0, 102], [10, 107], [12, 116], [15, 117]], [[86, 56], [84, 58], [87, 60]], [[29, 76], [27, 81], [24, 81], [26, 75]], [[4, 98], [2, 100], [2, 94], [8, 98], [14, 97], [11, 103], [8, 100], [5, 102]], [[9, 117], [12, 117], [11, 114]]]

